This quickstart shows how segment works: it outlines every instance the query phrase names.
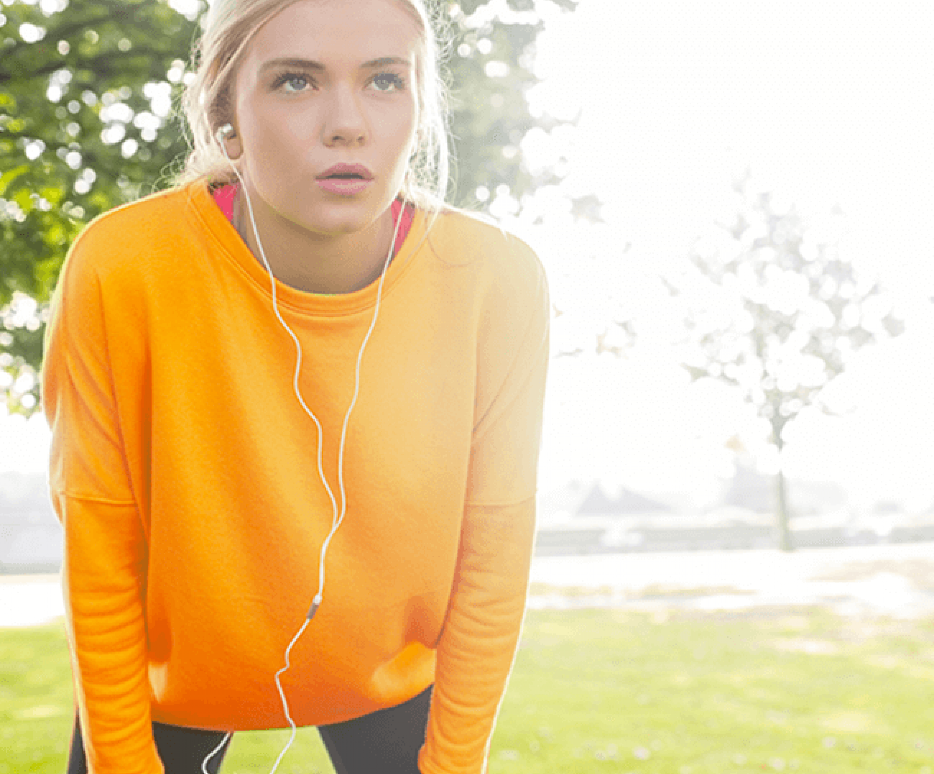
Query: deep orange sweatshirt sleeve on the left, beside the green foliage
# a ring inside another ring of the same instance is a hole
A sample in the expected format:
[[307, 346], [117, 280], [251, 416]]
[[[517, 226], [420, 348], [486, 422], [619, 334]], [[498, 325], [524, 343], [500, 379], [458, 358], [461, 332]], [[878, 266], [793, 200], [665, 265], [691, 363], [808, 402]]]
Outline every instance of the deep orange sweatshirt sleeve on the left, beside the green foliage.
[[92, 774], [162, 774], [149, 713], [146, 536], [86, 244], [79, 239], [59, 279], [42, 374], [75, 695]]

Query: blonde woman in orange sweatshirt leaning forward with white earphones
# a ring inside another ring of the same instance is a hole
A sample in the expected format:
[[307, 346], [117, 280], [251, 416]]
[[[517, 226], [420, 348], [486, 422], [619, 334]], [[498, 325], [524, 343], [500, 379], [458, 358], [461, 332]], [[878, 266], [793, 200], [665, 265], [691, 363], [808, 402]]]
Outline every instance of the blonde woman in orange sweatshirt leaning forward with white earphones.
[[[548, 302], [451, 208], [422, 0], [215, 0], [188, 169], [93, 222], [47, 339], [70, 774], [479, 774], [522, 623]], [[288, 746], [270, 768], [275, 770]]]

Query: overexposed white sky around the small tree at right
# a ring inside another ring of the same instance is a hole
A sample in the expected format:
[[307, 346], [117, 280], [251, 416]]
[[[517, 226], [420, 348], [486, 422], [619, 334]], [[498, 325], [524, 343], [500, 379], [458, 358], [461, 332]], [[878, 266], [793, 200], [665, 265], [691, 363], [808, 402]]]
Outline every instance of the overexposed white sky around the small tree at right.
[[[598, 477], [700, 504], [729, 476], [729, 437], [762, 452], [728, 391], [688, 386], [654, 279], [729, 217], [730, 183], [749, 165], [806, 213], [839, 204], [842, 249], [883, 279], [908, 324], [839, 380], [850, 415], [800, 417], [789, 473], [837, 480], [857, 505], [934, 504], [932, 32], [934, 4], [915, 0], [580, 0], [573, 14], [549, 15], [534, 101], [579, 111], [579, 129], [557, 146], [531, 141], [530, 159], [564, 150], [569, 187], [598, 193], [606, 223], [507, 225], [539, 251], [571, 312], [556, 336], [584, 337], [616, 310], [638, 313], [642, 337], [625, 359], [553, 363], [543, 489]], [[42, 469], [47, 434], [41, 420], [31, 427], [0, 419], [0, 470]]]

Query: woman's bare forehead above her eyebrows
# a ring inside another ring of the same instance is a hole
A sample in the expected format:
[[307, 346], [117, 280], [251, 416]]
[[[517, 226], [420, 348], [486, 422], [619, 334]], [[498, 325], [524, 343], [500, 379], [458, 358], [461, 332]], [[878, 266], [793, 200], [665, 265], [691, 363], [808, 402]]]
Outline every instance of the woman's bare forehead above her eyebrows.
[[394, 57], [415, 61], [417, 23], [399, 0], [297, 0], [257, 30], [248, 59], [360, 66]]

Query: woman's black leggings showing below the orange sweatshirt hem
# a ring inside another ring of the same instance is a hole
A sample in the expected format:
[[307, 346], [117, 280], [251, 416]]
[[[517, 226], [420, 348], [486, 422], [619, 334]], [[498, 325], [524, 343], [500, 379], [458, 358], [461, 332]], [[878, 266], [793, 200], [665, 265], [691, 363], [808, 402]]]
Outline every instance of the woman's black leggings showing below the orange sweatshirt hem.
[[[346, 723], [319, 725], [318, 733], [337, 774], [418, 774], [418, 751], [425, 743], [432, 687], [413, 699], [363, 715]], [[165, 774], [203, 774], [202, 763], [224, 738], [222, 731], [202, 731], [180, 725], [152, 724], [156, 749]], [[230, 748], [211, 758], [207, 770], [217, 774]], [[88, 774], [78, 719], [71, 739], [67, 774]]]

